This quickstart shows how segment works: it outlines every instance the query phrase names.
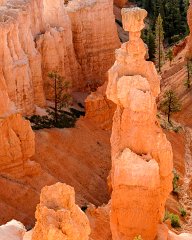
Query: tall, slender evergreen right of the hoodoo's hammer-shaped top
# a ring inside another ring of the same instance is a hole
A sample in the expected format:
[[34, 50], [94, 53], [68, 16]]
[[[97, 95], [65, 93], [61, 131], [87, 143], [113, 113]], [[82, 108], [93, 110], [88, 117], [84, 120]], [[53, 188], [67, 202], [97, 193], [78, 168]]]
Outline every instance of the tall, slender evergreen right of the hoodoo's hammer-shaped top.
[[156, 46], [156, 66], [159, 72], [161, 72], [161, 67], [164, 63], [165, 53], [163, 47], [164, 41], [164, 31], [163, 31], [163, 20], [159, 14], [156, 25], [155, 25], [155, 46]]

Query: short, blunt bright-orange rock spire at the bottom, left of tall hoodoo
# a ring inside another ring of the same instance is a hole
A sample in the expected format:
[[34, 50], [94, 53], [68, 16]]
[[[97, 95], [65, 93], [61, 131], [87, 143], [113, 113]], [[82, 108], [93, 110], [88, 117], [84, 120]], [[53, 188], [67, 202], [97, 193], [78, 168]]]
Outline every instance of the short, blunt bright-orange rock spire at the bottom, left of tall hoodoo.
[[32, 240], [88, 240], [89, 221], [75, 204], [74, 189], [57, 183], [44, 187]]

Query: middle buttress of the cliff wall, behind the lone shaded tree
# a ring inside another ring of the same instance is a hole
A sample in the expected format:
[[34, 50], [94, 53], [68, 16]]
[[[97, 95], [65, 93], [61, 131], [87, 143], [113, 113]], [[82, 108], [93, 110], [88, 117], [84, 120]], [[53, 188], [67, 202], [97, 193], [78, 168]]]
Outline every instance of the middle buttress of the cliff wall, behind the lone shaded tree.
[[74, 52], [71, 21], [63, 1], [43, 0], [43, 3], [46, 32], [37, 37], [36, 45], [42, 57], [46, 98], [50, 99], [49, 72], [58, 71], [74, 90], [83, 87], [84, 78]]

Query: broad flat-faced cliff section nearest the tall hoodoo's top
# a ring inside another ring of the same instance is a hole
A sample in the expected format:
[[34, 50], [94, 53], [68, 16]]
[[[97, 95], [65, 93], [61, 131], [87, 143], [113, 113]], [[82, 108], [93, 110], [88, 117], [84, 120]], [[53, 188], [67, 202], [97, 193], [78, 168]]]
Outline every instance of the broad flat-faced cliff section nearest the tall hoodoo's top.
[[[73, 0], [66, 10], [72, 24], [77, 61], [87, 84], [101, 82], [112, 66], [120, 42], [112, 0]], [[107, 16], [107, 17], [106, 17]]]

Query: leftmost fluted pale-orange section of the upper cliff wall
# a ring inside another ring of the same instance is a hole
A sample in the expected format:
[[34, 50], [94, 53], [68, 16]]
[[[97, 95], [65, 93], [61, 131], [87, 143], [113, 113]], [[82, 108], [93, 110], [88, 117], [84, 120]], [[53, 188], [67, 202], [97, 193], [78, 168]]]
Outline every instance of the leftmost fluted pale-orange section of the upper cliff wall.
[[38, 0], [28, 4], [10, 0], [0, 14], [0, 79], [17, 109], [28, 114], [35, 104], [45, 104], [41, 55], [34, 42], [35, 34], [43, 29], [42, 10]]

